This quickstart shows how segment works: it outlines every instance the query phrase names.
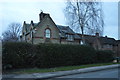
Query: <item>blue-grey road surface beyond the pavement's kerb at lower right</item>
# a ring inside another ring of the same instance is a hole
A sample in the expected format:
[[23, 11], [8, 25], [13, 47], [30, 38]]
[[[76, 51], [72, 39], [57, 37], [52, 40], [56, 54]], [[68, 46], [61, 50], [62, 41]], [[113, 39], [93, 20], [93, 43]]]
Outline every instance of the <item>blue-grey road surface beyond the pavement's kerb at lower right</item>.
[[[62, 77], [57, 77], [56, 79], [48, 79], [48, 80], [78, 80], [79, 78], [83, 79], [90, 79], [92, 80], [93, 78], [96, 78], [98, 80], [101, 78], [101, 80], [120, 80], [117, 78], [120, 78], [120, 69], [109, 69], [109, 70], [102, 70], [102, 71], [96, 71], [96, 72], [89, 72], [89, 73], [82, 73], [82, 74], [74, 74], [74, 75], [68, 75], [68, 76], [62, 76]], [[104, 79], [102, 79], [104, 78]], [[110, 79], [111, 78], [111, 79]], [[116, 79], [115, 79], [116, 78]], [[85, 79], [85, 80], [86, 80]]]

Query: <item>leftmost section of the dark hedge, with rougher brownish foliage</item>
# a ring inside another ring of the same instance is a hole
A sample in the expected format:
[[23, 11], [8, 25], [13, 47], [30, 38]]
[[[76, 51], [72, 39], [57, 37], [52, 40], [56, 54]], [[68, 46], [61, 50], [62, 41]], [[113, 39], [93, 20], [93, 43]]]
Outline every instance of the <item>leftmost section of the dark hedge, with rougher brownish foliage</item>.
[[32, 67], [35, 46], [22, 42], [7, 42], [3, 44], [2, 62], [3, 68]]

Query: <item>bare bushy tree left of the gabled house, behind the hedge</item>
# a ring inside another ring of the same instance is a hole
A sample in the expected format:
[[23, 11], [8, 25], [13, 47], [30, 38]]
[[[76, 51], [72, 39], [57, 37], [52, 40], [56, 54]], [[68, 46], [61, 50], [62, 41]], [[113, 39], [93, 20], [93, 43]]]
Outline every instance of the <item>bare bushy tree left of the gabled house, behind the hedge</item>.
[[3, 41], [18, 41], [21, 33], [21, 24], [11, 23], [8, 29], [2, 33]]

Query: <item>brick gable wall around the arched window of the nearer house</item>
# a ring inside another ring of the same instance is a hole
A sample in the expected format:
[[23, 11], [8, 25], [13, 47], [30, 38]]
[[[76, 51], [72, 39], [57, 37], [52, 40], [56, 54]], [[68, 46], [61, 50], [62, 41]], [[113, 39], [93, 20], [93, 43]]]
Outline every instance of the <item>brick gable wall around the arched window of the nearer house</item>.
[[59, 30], [57, 29], [54, 22], [51, 20], [49, 16], [46, 16], [44, 20], [42, 20], [41, 24], [38, 25], [36, 28], [37, 31], [33, 35], [33, 43], [45, 43], [46, 37], [45, 37], [45, 30], [49, 28], [51, 31], [51, 38], [50, 43], [60, 43], [60, 37], [59, 37]]

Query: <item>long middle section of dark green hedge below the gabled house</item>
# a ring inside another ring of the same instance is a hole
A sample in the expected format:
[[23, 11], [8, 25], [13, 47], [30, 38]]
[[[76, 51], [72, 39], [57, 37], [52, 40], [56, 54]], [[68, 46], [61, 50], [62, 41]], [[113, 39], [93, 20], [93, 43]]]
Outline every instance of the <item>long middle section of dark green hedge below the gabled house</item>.
[[38, 45], [39, 67], [56, 67], [94, 63], [96, 53], [93, 48], [80, 45], [40, 44]]

